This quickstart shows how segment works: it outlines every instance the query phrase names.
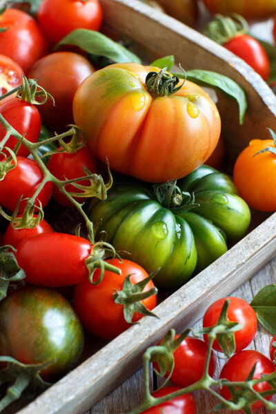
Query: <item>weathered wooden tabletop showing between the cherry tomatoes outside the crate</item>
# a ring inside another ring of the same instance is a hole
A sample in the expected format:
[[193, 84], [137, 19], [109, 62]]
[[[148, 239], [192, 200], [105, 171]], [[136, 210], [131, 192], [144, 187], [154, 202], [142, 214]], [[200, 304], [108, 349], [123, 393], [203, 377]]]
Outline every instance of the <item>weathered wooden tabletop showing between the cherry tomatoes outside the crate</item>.
[[[247, 302], [251, 302], [255, 294], [268, 284], [276, 284], [276, 259], [269, 262], [262, 270], [254, 275], [250, 281], [233, 292], [233, 296], [242, 297]], [[200, 315], [199, 315], [200, 317]], [[200, 321], [195, 328], [200, 327]], [[250, 349], [256, 349], [268, 356], [268, 347], [272, 335], [262, 326], [258, 326], [257, 335], [250, 346]], [[224, 365], [224, 357], [217, 353], [217, 371], [218, 375], [221, 367]], [[132, 375], [129, 380], [121, 384], [115, 391], [110, 393], [106, 398], [93, 406], [85, 414], [126, 414], [132, 408], [137, 406], [143, 398], [143, 371], [140, 370]], [[215, 404], [215, 400], [207, 393], [198, 392], [195, 394], [197, 402], [197, 414], [203, 414], [210, 410]], [[276, 399], [275, 399], [276, 401]], [[276, 413], [276, 411], [273, 411]], [[221, 411], [221, 414], [233, 413], [233, 411]], [[265, 408], [260, 408], [256, 414], [268, 414]]]

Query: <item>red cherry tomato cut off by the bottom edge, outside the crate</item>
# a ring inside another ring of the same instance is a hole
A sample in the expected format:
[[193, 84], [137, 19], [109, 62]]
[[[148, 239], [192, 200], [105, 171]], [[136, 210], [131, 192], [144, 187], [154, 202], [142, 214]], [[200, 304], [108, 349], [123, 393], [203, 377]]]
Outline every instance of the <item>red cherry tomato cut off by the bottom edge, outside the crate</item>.
[[[175, 391], [180, 390], [177, 386], [166, 386], [161, 388], [155, 393], [152, 393], [153, 397], [163, 397], [164, 395], [175, 393]], [[143, 411], [142, 414], [195, 414], [197, 408], [195, 406], [195, 400], [193, 394], [180, 395], [175, 397], [172, 400], [162, 402], [158, 406], [148, 408], [148, 410]]]

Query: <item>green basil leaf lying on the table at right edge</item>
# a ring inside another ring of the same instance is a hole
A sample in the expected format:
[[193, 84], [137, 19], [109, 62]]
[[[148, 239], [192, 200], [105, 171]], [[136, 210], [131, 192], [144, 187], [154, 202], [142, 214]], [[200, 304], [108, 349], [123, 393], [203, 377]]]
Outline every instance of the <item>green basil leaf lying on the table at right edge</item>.
[[273, 335], [276, 333], [276, 285], [265, 286], [250, 303], [259, 323]]

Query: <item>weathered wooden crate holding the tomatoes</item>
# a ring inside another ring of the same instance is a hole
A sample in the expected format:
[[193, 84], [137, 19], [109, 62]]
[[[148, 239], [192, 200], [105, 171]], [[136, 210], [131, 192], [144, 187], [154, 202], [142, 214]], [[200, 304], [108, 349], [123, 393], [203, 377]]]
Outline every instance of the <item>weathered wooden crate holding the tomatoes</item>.
[[[267, 127], [276, 130], [276, 97], [244, 61], [138, 0], [101, 0], [101, 4], [103, 31], [115, 39], [121, 34], [132, 39], [143, 59], [150, 62], [175, 55], [176, 62], [187, 70], [221, 72], [244, 88], [248, 111], [243, 126], [239, 126], [237, 104], [219, 95], [229, 165], [250, 139], [268, 137]], [[255, 215], [253, 227], [216, 262], [164, 299], [155, 309], [159, 319], [145, 317], [112, 342], [97, 341], [91, 336], [88, 353], [99, 350], [18, 414], [83, 414], [101, 400], [141, 366], [145, 349], [169, 328], [182, 330], [191, 326], [210, 302], [233, 292], [276, 255], [276, 215]]]

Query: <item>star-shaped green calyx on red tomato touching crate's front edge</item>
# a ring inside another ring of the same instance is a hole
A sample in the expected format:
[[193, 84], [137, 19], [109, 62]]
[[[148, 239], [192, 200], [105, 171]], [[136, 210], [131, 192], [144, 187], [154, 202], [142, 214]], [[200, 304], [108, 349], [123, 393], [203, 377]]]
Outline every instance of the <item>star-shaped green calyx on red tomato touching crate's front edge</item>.
[[126, 322], [130, 325], [137, 324], [138, 322], [132, 322], [132, 317], [135, 312], [140, 313], [141, 315], [157, 317], [155, 313], [151, 312], [146, 308], [144, 304], [141, 303], [142, 300], [147, 299], [150, 296], [157, 295], [158, 290], [156, 287], [146, 290], [144, 288], [146, 284], [156, 275], [159, 269], [151, 273], [145, 279], [132, 284], [130, 281], [131, 275], [127, 275], [124, 279], [124, 284], [122, 290], [116, 290], [113, 293], [112, 297], [116, 304], [124, 305], [124, 318]]

